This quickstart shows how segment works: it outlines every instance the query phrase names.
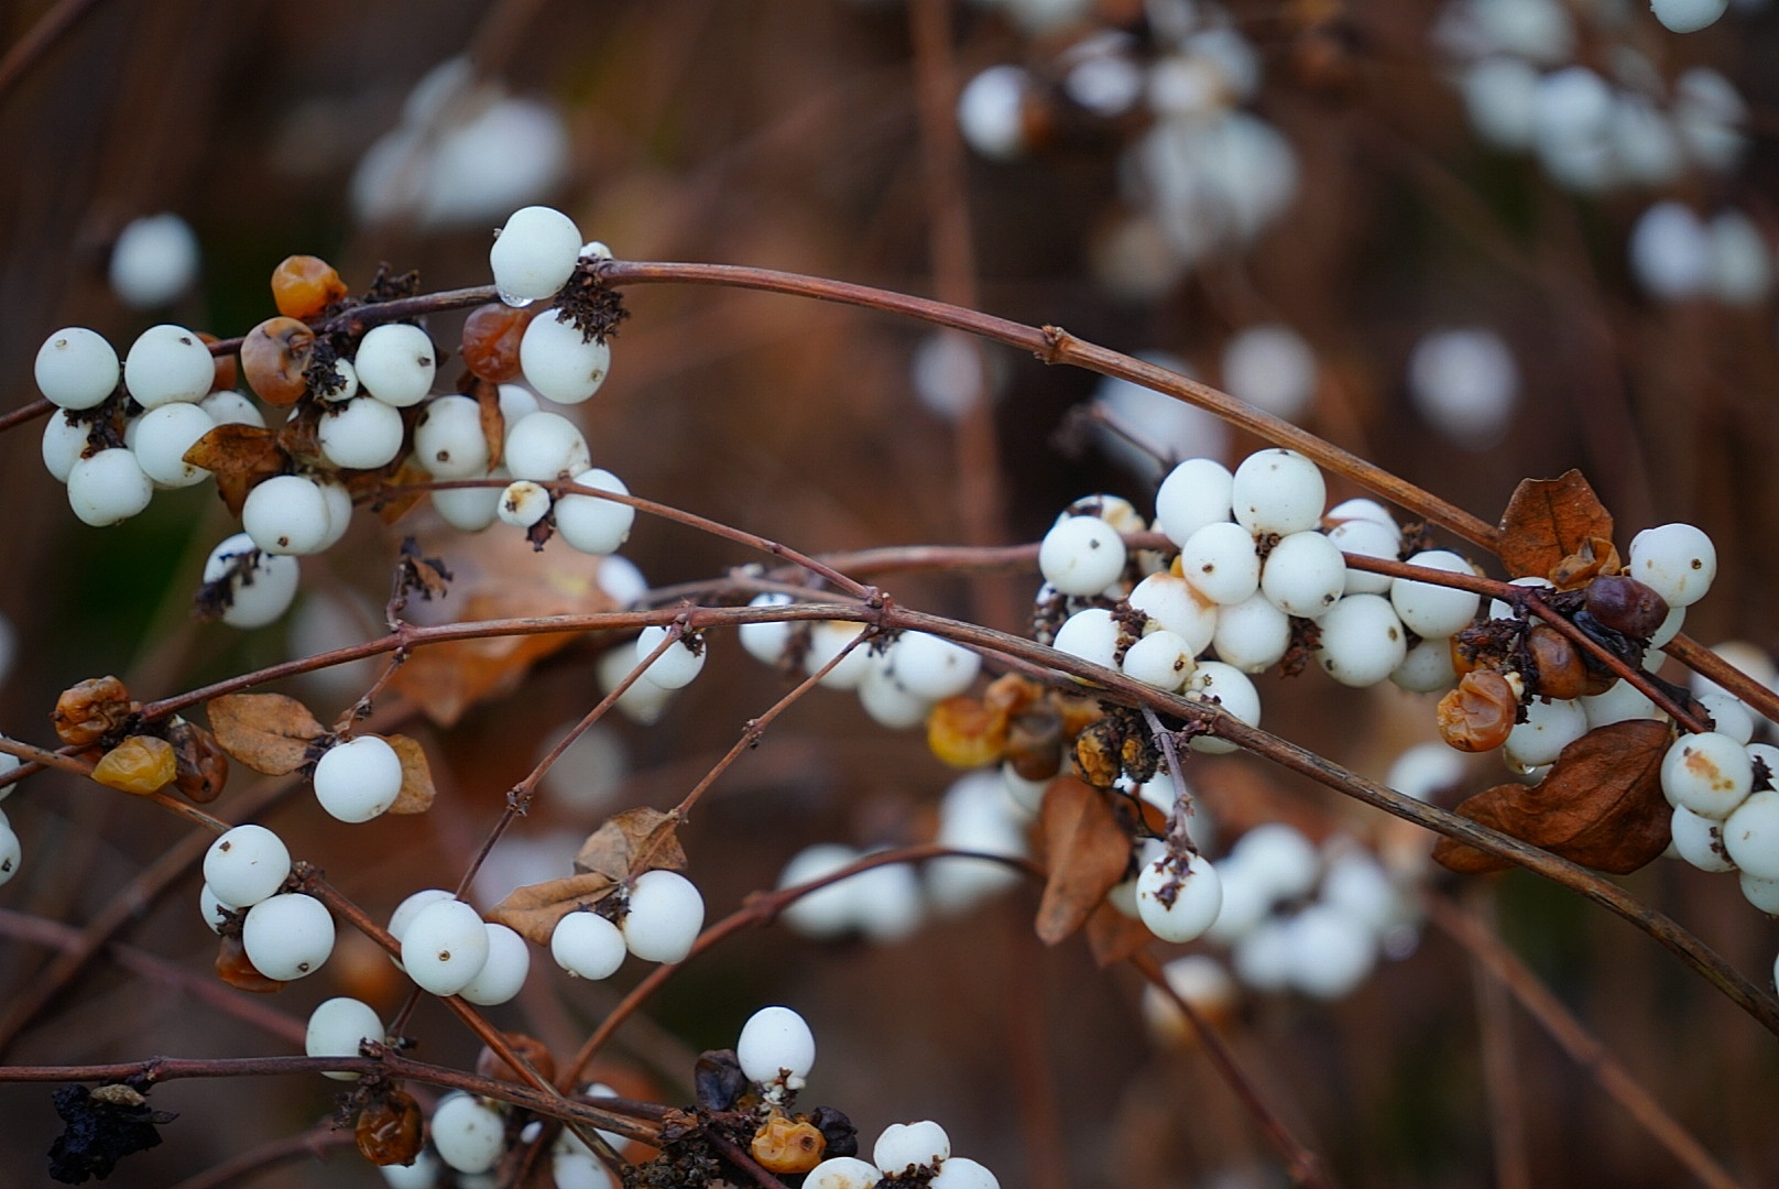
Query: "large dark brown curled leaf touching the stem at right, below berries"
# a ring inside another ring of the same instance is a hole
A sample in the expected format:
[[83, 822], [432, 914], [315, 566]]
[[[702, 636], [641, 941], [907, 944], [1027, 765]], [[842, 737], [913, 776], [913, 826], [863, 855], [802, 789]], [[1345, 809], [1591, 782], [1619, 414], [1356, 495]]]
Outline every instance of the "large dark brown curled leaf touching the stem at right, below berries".
[[[1541, 783], [1485, 789], [1457, 812], [1583, 867], [1633, 872], [1669, 844], [1662, 756], [1670, 739], [1649, 719], [1598, 726], [1564, 748]], [[1455, 838], [1441, 838], [1434, 860], [1464, 874], [1512, 867]]]

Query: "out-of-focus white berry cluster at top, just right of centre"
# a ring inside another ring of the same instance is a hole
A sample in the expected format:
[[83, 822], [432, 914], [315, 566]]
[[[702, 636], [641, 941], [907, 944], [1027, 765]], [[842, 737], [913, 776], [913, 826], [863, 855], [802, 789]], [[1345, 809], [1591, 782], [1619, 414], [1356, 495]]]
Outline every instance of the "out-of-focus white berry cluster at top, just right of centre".
[[1261, 89], [1261, 55], [1222, 5], [1147, 5], [1142, 41], [1076, 21], [1071, 5], [1005, 7], [1026, 28], [1069, 27], [1073, 36], [1060, 50], [1046, 48], [1051, 61], [1039, 69], [991, 66], [964, 85], [957, 125], [977, 153], [1019, 158], [1064, 117], [1117, 125], [1147, 116], [1121, 155], [1123, 210], [1092, 253], [1108, 288], [1165, 292], [1201, 260], [1251, 244], [1290, 208], [1297, 153], [1247, 110]]

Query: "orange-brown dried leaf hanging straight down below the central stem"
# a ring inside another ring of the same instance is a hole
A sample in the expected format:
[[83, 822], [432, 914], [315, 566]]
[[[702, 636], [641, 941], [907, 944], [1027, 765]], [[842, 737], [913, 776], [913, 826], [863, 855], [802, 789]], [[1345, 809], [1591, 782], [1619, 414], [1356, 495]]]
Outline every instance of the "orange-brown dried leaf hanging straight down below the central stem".
[[1126, 835], [1105, 796], [1073, 776], [1050, 781], [1039, 813], [1048, 878], [1037, 904], [1037, 940], [1055, 945], [1087, 924], [1130, 867]]

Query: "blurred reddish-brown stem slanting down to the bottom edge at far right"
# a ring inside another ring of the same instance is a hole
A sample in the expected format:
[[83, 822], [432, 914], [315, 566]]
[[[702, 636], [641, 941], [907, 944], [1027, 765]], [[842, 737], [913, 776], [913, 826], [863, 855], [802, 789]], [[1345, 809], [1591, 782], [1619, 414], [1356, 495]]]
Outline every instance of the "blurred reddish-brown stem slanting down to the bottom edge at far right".
[[1429, 920], [1462, 945], [1477, 967], [1487, 972], [1491, 981], [1503, 986], [1550, 1038], [1686, 1171], [1711, 1189], [1738, 1189], [1736, 1178], [1631, 1077], [1624, 1064], [1564, 1007], [1562, 1000], [1493, 929], [1439, 895], [1423, 897], [1421, 908]]

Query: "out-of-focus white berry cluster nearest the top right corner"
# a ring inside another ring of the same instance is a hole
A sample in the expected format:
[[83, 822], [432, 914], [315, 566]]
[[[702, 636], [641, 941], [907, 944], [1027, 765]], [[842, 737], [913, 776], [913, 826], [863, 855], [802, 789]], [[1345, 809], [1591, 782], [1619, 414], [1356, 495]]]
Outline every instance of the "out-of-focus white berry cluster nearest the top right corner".
[[[1678, 21], [1681, 9], [1713, 5], [1724, 11], [1722, 0], [1654, 7], [1656, 16]], [[1631, 21], [1603, 12], [1558, 0], [1448, 4], [1434, 36], [1457, 66], [1477, 135], [1535, 155], [1553, 182], [1583, 194], [1662, 187], [1690, 167], [1735, 169], [1747, 142], [1747, 105], [1735, 85], [1704, 66], [1667, 80]], [[1578, 21], [1587, 28], [1578, 30]], [[1578, 61], [1583, 41], [1594, 46], [1589, 61], [1610, 62], [1610, 78]], [[1603, 46], [1610, 53], [1598, 53]]]

